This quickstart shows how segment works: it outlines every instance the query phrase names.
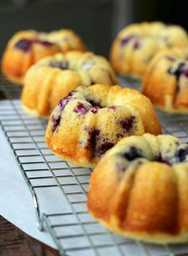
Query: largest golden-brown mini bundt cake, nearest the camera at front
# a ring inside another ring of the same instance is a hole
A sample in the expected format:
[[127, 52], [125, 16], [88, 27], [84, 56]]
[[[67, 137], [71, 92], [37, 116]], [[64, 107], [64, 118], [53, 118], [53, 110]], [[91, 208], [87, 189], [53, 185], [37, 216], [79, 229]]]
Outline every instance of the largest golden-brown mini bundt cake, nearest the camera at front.
[[146, 242], [188, 242], [188, 145], [174, 136], [130, 136], [90, 178], [88, 211], [116, 233]]

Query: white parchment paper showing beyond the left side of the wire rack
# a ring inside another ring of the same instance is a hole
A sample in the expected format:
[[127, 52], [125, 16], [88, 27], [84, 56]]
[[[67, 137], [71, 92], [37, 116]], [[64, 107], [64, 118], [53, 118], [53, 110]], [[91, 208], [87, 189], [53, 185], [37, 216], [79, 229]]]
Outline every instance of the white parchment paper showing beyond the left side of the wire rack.
[[0, 128], [0, 215], [26, 234], [56, 248], [47, 231], [37, 229], [29, 189]]

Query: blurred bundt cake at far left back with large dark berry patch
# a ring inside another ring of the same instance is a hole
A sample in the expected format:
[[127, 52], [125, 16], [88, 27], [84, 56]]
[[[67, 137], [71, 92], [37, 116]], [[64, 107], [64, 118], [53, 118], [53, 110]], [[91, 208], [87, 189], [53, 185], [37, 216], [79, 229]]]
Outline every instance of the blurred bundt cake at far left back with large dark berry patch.
[[84, 51], [85, 46], [72, 30], [39, 33], [26, 30], [14, 34], [2, 57], [2, 72], [11, 81], [22, 84], [31, 65], [43, 57], [69, 50]]

